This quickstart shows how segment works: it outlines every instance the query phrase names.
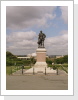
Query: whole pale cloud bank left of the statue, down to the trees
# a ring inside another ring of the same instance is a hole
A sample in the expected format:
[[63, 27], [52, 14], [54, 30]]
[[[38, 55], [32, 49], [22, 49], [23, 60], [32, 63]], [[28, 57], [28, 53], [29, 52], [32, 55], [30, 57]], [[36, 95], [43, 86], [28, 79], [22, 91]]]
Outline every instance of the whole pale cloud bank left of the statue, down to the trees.
[[6, 38], [7, 51], [11, 51], [14, 54], [19, 54], [20, 52], [21, 54], [26, 54], [29, 51], [33, 51], [37, 48], [36, 37], [36, 33], [33, 31], [13, 32], [7, 35]]

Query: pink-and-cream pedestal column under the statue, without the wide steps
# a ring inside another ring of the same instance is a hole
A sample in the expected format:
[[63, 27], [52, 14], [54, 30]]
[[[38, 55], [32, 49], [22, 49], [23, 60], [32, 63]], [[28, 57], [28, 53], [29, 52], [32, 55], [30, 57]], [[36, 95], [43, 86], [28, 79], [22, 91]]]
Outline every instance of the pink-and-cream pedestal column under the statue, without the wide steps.
[[34, 67], [40, 67], [40, 68], [47, 67], [46, 49], [45, 48], [38, 48], [36, 50], [36, 54], [37, 54], [37, 61], [36, 61], [36, 64], [34, 65]]

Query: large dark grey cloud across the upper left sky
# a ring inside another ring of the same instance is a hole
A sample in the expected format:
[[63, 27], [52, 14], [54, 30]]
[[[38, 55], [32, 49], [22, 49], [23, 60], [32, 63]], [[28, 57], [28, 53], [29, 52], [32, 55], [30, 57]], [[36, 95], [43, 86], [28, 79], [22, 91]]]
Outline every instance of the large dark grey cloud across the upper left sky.
[[11, 29], [27, 28], [39, 25], [42, 21], [47, 24], [47, 19], [53, 19], [53, 11], [56, 7], [38, 6], [7, 6], [6, 7], [6, 26]]

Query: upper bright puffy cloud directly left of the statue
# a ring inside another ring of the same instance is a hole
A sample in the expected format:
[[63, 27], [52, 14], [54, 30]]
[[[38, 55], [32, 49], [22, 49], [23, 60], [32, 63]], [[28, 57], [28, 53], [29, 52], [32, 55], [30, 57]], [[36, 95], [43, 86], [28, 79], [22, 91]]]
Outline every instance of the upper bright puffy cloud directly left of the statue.
[[27, 32], [13, 32], [10, 35], [7, 35], [7, 43], [8, 42], [20, 42], [24, 40], [32, 40], [36, 38], [37, 35], [34, 31]]

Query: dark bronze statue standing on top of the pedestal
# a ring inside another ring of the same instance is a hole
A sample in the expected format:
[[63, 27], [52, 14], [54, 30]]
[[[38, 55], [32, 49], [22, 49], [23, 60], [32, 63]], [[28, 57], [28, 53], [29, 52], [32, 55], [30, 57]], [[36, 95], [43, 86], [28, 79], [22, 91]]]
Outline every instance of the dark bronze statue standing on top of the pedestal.
[[38, 48], [44, 48], [44, 40], [46, 38], [46, 35], [40, 31], [38, 35]]

